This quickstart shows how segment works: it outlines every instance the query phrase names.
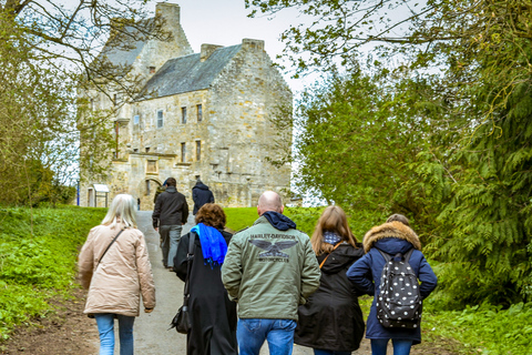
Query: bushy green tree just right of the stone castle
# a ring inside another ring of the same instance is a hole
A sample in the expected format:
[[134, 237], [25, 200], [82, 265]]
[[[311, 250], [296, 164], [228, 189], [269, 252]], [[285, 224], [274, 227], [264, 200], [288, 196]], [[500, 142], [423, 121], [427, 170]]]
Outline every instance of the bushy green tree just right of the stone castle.
[[430, 87], [383, 79], [361, 69], [334, 72], [301, 95], [296, 115], [299, 189], [350, 210], [359, 236], [393, 212], [421, 214], [407, 166], [424, 145], [434, 109], [422, 97]]

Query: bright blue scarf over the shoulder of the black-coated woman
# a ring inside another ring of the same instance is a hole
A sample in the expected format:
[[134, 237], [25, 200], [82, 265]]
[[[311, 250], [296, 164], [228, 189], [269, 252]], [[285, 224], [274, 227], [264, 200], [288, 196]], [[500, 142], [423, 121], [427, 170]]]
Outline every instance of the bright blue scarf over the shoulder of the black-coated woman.
[[205, 265], [209, 264], [211, 268], [222, 265], [225, 254], [227, 254], [227, 243], [222, 233], [215, 227], [203, 223], [193, 226], [191, 232], [195, 232], [200, 236]]

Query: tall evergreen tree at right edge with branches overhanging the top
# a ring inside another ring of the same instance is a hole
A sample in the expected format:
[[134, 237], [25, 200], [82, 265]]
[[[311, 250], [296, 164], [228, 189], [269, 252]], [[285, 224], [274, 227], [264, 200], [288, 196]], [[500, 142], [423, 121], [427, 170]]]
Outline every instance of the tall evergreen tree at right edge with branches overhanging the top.
[[[316, 18], [283, 36], [298, 72], [330, 68], [335, 58], [349, 71], [350, 61], [360, 60], [362, 47], [374, 42], [383, 44], [369, 58], [393, 63], [400, 54], [410, 73], [424, 79], [431, 90], [421, 98], [438, 114], [429, 118], [417, 159], [405, 161], [416, 172], [405, 189], [417, 191], [413, 200], [421, 213], [413, 216], [427, 222], [421, 232], [429, 242], [427, 254], [441, 262], [440, 290], [454, 306], [530, 300], [532, 6], [523, 0], [441, 0], [413, 10], [415, 3], [406, 1], [412, 10], [393, 20], [385, 8], [400, 2], [246, 3], [255, 9], [253, 16], [299, 7]], [[405, 28], [392, 37], [400, 24]], [[393, 65], [378, 69], [391, 74]], [[439, 72], [429, 74], [429, 69]], [[403, 94], [413, 97], [418, 82], [405, 85]], [[345, 166], [339, 170], [347, 173]]]

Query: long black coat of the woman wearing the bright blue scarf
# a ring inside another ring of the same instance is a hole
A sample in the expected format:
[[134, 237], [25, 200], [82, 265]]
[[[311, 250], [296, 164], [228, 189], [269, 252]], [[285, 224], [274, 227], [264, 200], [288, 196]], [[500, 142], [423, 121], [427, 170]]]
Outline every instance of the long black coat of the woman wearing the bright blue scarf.
[[[232, 234], [221, 231], [227, 244]], [[193, 233], [193, 232], [191, 232]], [[191, 233], [182, 236], [174, 257], [174, 270], [185, 281], [186, 254]], [[192, 331], [187, 335], [188, 355], [238, 354], [236, 343], [236, 303], [227, 297], [222, 284], [221, 266], [205, 265], [200, 237], [194, 239], [194, 261], [190, 277]]]

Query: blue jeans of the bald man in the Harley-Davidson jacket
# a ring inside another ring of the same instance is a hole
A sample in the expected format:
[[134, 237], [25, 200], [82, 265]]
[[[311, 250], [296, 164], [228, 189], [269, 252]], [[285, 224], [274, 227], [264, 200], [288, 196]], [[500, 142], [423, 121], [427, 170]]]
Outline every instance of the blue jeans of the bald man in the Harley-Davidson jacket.
[[241, 318], [236, 329], [241, 355], [258, 355], [264, 341], [270, 355], [291, 355], [295, 329], [293, 320]]

